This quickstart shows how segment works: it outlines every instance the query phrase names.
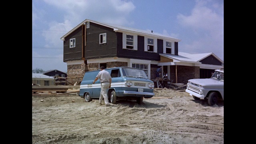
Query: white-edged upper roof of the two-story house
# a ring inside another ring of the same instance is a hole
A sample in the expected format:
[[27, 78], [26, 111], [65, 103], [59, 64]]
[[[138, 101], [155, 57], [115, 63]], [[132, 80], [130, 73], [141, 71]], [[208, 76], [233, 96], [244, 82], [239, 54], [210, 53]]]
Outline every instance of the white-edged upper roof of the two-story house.
[[180, 41], [180, 39], [177, 39], [177, 38], [173, 38], [173, 37], [170, 37], [170, 36], [165, 36], [165, 35], [158, 34], [158, 33], [152, 33], [152, 32], [146, 31], [146, 30], [139, 30], [139, 29], [135, 29], [135, 28], [128, 28], [128, 27], [125, 27], [125, 26], [118, 26], [116, 24], [108, 24], [108, 23], [105, 23], [105, 22], [97, 22], [97, 21], [88, 20], [88, 19], [86, 19], [83, 22], [81, 22], [80, 24], [78, 24], [75, 28], [70, 30], [68, 33], [66, 33], [64, 36], [62, 36], [60, 39], [61, 40], [65, 40], [66, 36], [68, 36], [69, 34], [74, 32], [74, 30], [76, 30], [77, 28], [79, 28], [80, 26], [82, 26], [86, 22], [93, 22], [93, 23], [96, 23], [96, 24], [100, 24], [102, 26], [113, 28], [115, 32], [132, 32], [132, 33], [136, 33], [136, 34], [142, 34], [142, 35], [147, 35], [147, 36], [154, 36], [154, 37], [163, 38], [163, 39], [171, 39], [171, 40], [174, 40], [175, 42], [179, 42]]

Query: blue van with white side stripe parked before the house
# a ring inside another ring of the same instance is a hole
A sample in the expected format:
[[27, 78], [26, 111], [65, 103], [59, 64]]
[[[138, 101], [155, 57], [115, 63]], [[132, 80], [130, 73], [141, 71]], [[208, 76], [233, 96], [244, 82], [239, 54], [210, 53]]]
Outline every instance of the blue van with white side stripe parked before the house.
[[[112, 104], [116, 104], [116, 100], [136, 100], [138, 104], [141, 104], [143, 97], [152, 98], [155, 95], [154, 82], [148, 79], [144, 70], [129, 67], [106, 68], [105, 70], [112, 78], [111, 87], [107, 90], [108, 100]], [[99, 72], [100, 70], [94, 70], [84, 74], [79, 96], [86, 102], [100, 98], [100, 79], [92, 84]]]

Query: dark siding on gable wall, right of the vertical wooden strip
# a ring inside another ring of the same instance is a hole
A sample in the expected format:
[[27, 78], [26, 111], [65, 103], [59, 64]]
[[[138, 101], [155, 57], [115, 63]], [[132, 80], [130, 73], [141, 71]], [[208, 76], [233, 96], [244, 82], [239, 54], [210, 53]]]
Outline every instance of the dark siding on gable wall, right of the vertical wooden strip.
[[[100, 34], [104, 33], [106, 33], [106, 44], [100, 44]], [[90, 22], [90, 28], [86, 29], [85, 59], [115, 57], [116, 39], [113, 28]]]

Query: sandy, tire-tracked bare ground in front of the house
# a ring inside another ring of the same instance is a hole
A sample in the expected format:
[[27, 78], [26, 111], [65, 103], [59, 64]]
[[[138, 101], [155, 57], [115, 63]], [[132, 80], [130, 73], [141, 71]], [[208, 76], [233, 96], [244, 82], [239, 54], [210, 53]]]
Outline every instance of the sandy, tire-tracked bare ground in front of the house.
[[141, 105], [117, 100], [109, 107], [79, 96], [32, 96], [32, 144], [224, 143], [224, 101], [208, 106], [186, 92], [154, 93]]

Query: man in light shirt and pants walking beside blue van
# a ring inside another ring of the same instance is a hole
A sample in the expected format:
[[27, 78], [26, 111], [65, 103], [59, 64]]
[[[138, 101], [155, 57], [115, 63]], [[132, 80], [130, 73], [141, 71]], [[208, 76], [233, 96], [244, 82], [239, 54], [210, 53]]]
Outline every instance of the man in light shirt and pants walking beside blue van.
[[102, 99], [104, 98], [104, 102], [106, 106], [110, 106], [108, 102], [107, 89], [111, 87], [112, 78], [109, 72], [105, 70], [104, 66], [100, 67], [100, 72], [98, 73], [98, 75], [96, 76], [96, 78], [92, 83], [94, 84], [98, 79], [100, 79], [100, 83], [101, 83], [99, 104], [101, 104]]

